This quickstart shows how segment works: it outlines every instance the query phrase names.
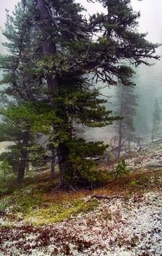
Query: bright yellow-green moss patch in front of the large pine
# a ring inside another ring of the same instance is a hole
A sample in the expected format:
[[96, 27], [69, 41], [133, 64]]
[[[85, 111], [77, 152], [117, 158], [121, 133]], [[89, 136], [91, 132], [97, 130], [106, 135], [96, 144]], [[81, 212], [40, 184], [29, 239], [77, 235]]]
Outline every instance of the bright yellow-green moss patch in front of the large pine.
[[47, 208], [36, 209], [27, 214], [25, 220], [33, 225], [46, 225], [55, 222], [61, 222], [64, 219], [75, 216], [80, 213], [87, 214], [99, 206], [97, 200], [74, 200], [72, 203], [51, 203]]

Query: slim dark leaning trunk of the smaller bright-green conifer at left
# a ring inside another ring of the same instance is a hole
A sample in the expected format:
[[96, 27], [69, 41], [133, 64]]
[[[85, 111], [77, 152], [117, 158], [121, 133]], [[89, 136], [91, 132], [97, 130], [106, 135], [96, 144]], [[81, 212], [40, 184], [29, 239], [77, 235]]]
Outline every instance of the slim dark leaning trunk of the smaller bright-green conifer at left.
[[26, 171], [26, 162], [28, 161], [28, 141], [29, 141], [29, 130], [23, 134], [23, 148], [21, 150], [20, 167], [18, 169], [18, 184], [23, 181], [24, 173]]

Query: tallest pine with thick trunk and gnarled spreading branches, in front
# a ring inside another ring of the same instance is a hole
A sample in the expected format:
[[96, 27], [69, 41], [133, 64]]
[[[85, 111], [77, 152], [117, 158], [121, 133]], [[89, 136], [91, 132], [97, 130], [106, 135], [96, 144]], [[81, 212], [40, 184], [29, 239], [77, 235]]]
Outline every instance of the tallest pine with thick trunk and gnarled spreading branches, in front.
[[134, 71], [126, 61], [138, 66], [158, 59], [158, 45], [136, 32], [139, 13], [133, 12], [130, 1], [100, 2], [108, 12], [89, 20], [74, 0], [21, 0], [14, 17], [7, 15], [4, 35], [11, 55], [1, 58], [1, 68], [7, 71], [2, 83], [9, 83], [7, 94], [53, 108], [50, 143], [58, 157], [61, 184], [67, 183], [68, 173], [85, 177], [93, 166], [86, 158], [105, 149], [101, 142], [77, 139], [77, 125], [104, 127], [117, 119], [104, 108], [107, 101], [94, 89], [95, 80], [131, 86]]

